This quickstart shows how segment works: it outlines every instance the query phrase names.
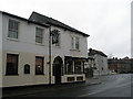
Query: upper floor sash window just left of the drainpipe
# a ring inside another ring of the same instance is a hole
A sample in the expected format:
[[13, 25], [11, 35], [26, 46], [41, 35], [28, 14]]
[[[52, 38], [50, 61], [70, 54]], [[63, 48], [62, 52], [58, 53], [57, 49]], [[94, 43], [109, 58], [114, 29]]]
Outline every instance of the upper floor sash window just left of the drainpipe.
[[35, 29], [35, 43], [43, 43], [43, 30], [37, 28]]

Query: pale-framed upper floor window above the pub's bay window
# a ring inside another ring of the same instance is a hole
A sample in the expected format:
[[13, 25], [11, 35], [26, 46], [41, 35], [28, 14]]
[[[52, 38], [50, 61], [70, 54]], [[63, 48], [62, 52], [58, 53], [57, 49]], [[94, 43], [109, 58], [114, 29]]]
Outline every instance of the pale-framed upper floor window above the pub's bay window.
[[79, 37], [71, 37], [71, 48], [72, 50], [80, 50], [80, 38]]

